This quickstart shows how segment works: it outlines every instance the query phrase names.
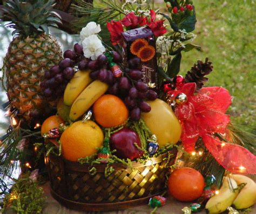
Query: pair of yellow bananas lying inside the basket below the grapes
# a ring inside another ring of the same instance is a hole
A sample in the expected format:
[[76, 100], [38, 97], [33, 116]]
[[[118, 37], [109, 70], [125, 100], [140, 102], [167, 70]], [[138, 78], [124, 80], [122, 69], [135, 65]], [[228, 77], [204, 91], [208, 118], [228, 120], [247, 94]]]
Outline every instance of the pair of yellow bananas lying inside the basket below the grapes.
[[69, 118], [72, 121], [82, 116], [109, 87], [99, 80], [93, 81], [90, 72], [78, 70], [66, 86], [64, 103], [71, 106]]

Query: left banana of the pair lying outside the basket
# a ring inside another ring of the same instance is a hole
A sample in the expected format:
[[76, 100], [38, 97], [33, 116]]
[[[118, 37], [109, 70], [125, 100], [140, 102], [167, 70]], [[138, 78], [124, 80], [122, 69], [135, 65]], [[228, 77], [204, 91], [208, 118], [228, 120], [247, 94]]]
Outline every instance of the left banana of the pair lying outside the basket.
[[219, 190], [218, 195], [214, 195], [206, 203], [205, 209], [208, 213], [221, 213], [224, 212], [228, 206], [231, 206], [235, 197], [238, 195], [238, 190], [232, 191], [237, 188], [237, 183], [233, 179], [224, 178], [223, 185]]

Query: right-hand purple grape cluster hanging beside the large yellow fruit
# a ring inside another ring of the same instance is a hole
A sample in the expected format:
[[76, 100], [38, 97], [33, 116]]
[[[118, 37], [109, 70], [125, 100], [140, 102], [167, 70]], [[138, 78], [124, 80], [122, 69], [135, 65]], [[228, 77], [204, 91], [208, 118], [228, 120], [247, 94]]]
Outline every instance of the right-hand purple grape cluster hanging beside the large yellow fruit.
[[155, 100], [158, 95], [154, 90], [149, 89], [146, 83], [141, 79], [143, 77], [140, 67], [140, 59], [134, 57], [128, 61], [129, 68], [125, 70], [126, 76], [120, 77], [112, 87], [109, 93], [124, 98], [127, 108], [130, 110], [130, 118], [139, 120], [141, 112], [150, 112], [151, 107], [147, 100]]

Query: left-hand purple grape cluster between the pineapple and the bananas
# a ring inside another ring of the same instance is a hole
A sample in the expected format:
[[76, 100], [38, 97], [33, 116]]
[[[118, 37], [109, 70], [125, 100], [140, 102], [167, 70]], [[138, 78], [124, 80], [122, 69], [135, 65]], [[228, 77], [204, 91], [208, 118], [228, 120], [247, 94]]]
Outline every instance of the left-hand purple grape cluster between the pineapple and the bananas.
[[49, 101], [54, 101], [64, 94], [66, 85], [75, 75], [73, 66], [84, 58], [83, 47], [78, 43], [74, 50], [67, 50], [63, 54], [64, 59], [44, 73], [44, 81], [40, 83], [43, 95]]

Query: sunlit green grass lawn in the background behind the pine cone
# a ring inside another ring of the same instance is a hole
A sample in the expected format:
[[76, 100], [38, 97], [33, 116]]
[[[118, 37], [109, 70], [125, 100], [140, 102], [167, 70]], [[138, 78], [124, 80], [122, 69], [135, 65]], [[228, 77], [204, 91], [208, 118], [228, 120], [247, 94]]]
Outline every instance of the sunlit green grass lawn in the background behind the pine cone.
[[[213, 72], [206, 86], [221, 85], [233, 96], [228, 110], [235, 123], [256, 129], [256, 1], [194, 0], [197, 34], [203, 52], [183, 53], [181, 74], [207, 56]], [[161, 10], [164, 3], [158, 3]]]

